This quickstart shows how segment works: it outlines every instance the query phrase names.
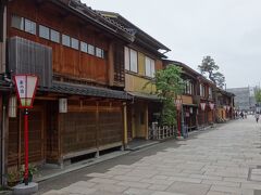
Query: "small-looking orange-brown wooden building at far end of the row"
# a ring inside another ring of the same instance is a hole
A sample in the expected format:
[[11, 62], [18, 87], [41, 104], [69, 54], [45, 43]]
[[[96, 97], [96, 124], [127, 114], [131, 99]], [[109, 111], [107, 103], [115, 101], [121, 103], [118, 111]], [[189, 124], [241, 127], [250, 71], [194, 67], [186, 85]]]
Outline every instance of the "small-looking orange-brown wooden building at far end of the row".
[[235, 94], [216, 88], [216, 121], [222, 122], [235, 119]]

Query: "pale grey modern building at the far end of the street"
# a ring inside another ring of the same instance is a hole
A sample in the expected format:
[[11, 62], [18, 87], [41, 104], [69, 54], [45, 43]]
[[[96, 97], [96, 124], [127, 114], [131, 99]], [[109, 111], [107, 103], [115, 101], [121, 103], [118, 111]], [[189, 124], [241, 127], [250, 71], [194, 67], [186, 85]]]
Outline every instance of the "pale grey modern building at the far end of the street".
[[227, 89], [228, 92], [234, 93], [235, 106], [239, 110], [254, 110], [256, 99], [254, 99], [254, 88], [232, 88]]

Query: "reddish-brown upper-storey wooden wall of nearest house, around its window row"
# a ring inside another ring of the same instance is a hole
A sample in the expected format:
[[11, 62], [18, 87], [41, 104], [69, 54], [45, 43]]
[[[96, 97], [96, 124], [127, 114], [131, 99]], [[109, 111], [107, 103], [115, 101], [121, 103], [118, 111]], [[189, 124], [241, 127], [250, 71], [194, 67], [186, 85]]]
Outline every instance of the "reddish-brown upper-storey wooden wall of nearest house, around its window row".
[[[37, 24], [36, 34], [32, 35], [11, 27], [11, 16], [15, 14], [30, 20]], [[104, 50], [104, 55], [109, 54], [110, 44], [122, 46], [121, 41], [113, 41], [110, 35], [102, 32], [101, 29], [91, 24], [79, 20], [73, 14], [57, 8], [49, 1], [38, 4], [33, 0], [15, 0], [9, 4], [8, 9], [8, 36], [18, 36], [52, 48], [52, 67], [54, 76], [59, 79], [71, 79], [86, 82], [95, 82], [103, 86], [109, 84], [109, 56], [97, 57], [79, 49], [44, 39], [39, 37], [39, 25], [54, 29], [61, 35], [67, 35], [78, 41], [85, 41], [91, 46]], [[121, 50], [121, 49], [120, 49]], [[121, 76], [119, 76], [121, 77]], [[124, 80], [123, 80], [124, 82]]]

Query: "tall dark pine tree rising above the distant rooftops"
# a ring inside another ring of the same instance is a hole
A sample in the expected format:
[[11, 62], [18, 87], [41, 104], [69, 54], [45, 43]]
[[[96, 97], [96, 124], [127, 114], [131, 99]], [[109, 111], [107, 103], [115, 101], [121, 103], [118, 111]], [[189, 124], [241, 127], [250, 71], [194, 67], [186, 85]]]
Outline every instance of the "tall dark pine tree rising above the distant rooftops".
[[202, 60], [201, 65], [198, 66], [202, 75], [208, 74], [208, 77], [220, 88], [225, 86], [225, 77], [222, 73], [217, 72], [220, 67], [215, 64], [214, 60], [211, 56], [206, 56]]

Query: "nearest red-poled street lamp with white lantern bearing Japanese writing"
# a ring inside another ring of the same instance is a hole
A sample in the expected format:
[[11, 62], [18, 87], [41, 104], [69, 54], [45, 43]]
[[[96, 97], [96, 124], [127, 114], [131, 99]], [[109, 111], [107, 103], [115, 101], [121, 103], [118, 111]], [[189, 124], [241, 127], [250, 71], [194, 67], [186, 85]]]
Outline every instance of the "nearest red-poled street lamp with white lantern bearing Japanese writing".
[[24, 108], [24, 183], [28, 185], [28, 108], [33, 108], [38, 77], [35, 75], [15, 75], [14, 81], [20, 108]]

